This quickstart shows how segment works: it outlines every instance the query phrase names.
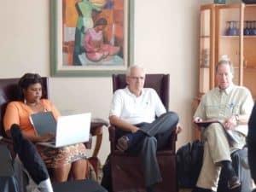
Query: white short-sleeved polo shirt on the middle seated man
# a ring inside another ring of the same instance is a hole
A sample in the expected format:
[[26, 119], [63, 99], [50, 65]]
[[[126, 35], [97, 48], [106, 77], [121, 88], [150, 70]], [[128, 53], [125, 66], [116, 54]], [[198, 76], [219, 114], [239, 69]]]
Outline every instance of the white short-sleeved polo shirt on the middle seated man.
[[162, 113], [166, 113], [166, 108], [154, 89], [143, 88], [142, 95], [135, 96], [126, 87], [114, 92], [109, 116], [115, 115], [135, 125], [151, 123], [155, 116], [159, 117]]

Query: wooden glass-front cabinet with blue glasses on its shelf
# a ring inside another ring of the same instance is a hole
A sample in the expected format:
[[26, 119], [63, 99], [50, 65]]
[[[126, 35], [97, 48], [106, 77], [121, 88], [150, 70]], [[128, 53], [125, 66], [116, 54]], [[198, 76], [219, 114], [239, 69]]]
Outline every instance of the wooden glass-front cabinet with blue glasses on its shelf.
[[217, 85], [215, 66], [221, 55], [228, 55], [234, 65], [234, 83], [246, 86], [256, 99], [256, 4], [201, 5], [199, 91], [194, 108]]

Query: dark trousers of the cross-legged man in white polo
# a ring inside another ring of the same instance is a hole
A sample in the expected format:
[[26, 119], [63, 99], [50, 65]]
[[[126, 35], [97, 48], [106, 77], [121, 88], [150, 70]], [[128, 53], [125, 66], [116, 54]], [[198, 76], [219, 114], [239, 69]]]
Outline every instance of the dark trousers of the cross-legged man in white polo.
[[[137, 125], [145, 133], [145, 137], [137, 144], [132, 145], [125, 153], [138, 155], [141, 158], [145, 185], [147, 187], [162, 181], [160, 167], [156, 159], [156, 151], [166, 146], [177, 122], [177, 113], [167, 112], [160, 115], [159, 118], [150, 124], [141, 123]], [[130, 132], [117, 129], [116, 133], [118, 139]]]

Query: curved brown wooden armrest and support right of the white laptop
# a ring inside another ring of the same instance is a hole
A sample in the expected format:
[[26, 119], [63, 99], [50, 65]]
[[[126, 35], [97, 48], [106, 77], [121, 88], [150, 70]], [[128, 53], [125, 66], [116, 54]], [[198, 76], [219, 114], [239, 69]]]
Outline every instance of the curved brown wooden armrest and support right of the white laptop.
[[102, 133], [103, 126], [108, 127], [108, 121], [100, 118], [93, 118], [90, 122], [90, 134], [96, 136], [96, 145], [92, 154], [92, 157], [96, 157], [102, 146]]

